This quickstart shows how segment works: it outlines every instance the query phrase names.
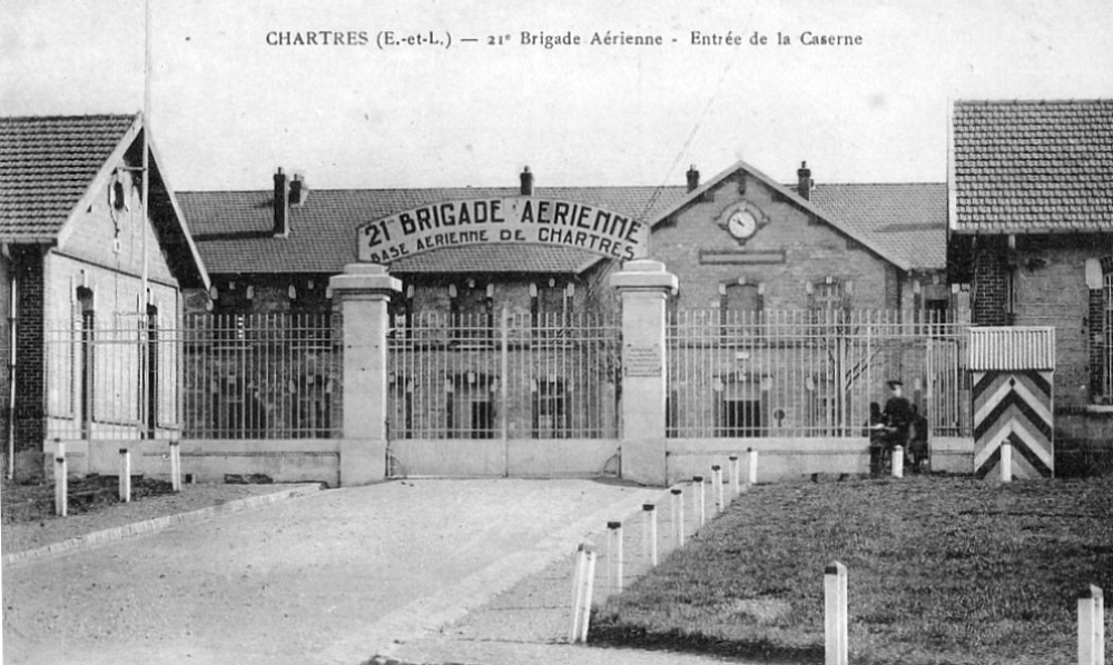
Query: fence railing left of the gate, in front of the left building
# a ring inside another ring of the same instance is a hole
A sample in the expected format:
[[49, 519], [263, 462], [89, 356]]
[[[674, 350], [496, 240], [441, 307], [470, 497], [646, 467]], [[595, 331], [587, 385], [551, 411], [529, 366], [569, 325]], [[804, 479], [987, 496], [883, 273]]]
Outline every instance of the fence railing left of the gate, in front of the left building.
[[338, 315], [115, 318], [46, 335], [48, 437], [338, 436]]

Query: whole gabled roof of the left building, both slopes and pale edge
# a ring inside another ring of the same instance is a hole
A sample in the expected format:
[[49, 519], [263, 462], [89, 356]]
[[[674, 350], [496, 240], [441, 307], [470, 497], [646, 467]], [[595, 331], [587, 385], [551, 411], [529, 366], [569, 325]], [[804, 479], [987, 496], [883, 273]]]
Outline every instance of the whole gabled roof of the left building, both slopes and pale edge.
[[[125, 156], [142, 161], [142, 115], [0, 118], [0, 242], [59, 245]], [[150, 150], [149, 215], [184, 286], [208, 274]]]

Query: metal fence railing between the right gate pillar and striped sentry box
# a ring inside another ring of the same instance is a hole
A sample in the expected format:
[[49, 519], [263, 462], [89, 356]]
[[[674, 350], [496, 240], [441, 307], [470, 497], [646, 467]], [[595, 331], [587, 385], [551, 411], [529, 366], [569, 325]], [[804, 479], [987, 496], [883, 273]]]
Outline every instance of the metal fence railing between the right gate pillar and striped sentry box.
[[935, 435], [969, 428], [966, 324], [934, 312], [681, 311], [669, 326], [670, 437], [857, 437], [886, 381]]

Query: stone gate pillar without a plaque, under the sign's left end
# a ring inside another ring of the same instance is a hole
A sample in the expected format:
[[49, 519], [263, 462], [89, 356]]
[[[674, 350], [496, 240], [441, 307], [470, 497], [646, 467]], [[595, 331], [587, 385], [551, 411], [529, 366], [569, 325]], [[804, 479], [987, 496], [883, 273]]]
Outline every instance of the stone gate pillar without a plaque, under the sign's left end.
[[402, 282], [386, 268], [349, 264], [328, 280], [344, 327], [341, 485], [386, 478], [386, 305]]

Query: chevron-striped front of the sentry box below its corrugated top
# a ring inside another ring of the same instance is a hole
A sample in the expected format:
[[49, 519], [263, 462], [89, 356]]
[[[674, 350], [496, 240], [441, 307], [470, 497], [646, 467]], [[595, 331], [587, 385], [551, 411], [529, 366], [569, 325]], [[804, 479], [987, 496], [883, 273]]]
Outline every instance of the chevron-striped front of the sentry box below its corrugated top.
[[975, 371], [974, 472], [978, 477], [1001, 474], [1001, 445], [1013, 446], [1013, 477], [1040, 478], [1054, 474], [1052, 373]]

